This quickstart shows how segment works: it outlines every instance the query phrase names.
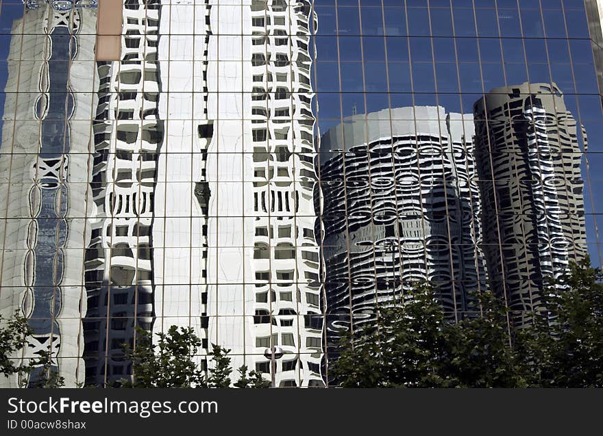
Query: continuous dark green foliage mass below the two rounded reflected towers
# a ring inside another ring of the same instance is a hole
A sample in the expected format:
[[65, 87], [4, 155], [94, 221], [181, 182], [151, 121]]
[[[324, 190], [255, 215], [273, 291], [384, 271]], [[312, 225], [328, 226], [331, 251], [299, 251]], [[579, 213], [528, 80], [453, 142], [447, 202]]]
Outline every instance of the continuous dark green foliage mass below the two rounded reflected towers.
[[330, 372], [342, 387], [603, 387], [602, 280], [588, 259], [571, 264], [518, 330], [490, 292], [454, 323], [418, 285], [347, 333]]

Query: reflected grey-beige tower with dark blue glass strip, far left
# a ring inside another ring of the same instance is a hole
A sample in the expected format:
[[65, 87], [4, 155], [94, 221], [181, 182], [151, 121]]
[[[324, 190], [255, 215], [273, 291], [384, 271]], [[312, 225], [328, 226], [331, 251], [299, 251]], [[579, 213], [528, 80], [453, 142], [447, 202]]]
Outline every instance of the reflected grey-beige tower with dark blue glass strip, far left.
[[94, 57], [94, 17], [87, 8], [46, 3], [27, 10], [11, 23], [3, 86], [0, 313], [27, 316], [34, 334], [21, 357], [51, 352], [51, 371], [60, 370], [70, 385], [83, 370], [82, 244], [90, 209], [82, 199], [97, 83], [87, 62]]

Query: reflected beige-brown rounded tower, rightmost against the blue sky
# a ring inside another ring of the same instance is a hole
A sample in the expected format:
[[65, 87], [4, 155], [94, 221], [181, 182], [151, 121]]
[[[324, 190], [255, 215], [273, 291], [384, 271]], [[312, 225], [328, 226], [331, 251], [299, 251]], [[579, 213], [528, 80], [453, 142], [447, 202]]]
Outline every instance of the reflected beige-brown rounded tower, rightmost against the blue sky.
[[491, 285], [524, 324], [547, 279], [560, 279], [569, 261], [586, 255], [586, 133], [555, 84], [493, 89], [476, 102], [475, 116]]

